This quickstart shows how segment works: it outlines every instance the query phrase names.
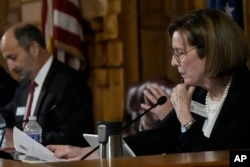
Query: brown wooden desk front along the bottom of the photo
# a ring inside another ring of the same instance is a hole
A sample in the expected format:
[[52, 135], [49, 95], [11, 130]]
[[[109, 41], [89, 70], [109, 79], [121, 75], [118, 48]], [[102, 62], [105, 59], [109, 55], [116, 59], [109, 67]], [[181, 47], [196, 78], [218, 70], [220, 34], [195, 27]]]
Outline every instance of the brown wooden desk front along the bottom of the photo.
[[53, 162], [36, 165], [40, 167], [229, 167], [229, 151]]

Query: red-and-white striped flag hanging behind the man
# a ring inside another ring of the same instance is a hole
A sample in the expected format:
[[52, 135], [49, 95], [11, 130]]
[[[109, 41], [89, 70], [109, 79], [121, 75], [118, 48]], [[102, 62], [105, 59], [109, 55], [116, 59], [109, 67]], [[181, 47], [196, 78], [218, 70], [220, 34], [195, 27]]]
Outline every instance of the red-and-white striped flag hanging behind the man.
[[41, 28], [51, 54], [73, 68], [85, 66], [78, 0], [42, 0]]

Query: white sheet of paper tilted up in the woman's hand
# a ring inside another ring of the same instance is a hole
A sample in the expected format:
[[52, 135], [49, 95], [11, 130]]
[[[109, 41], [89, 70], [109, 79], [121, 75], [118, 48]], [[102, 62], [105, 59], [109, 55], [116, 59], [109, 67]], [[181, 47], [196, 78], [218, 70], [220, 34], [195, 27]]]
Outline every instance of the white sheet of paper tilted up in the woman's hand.
[[42, 144], [33, 140], [31, 137], [16, 127], [14, 127], [13, 140], [15, 149], [18, 152], [49, 162], [66, 161], [54, 157], [53, 152], [44, 147]]

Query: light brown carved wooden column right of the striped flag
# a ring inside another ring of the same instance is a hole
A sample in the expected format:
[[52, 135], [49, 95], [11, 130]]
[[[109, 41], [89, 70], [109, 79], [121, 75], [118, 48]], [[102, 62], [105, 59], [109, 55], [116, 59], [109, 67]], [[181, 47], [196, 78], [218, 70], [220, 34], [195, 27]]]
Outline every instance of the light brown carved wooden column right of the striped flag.
[[90, 23], [90, 30], [85, 33], [85, 43], [90, 61], [89, 82], [93, 93], [95, 122], [118, 121], [122, 119], [124, 102], [123, 42], [118, 38], [121, 0], [84, 2], [100, 2], [97, 7], [103, 5], [103, 8], [107, 8], [101, 12], [102, 15], [98, 11], [91, 14], [98, 17], [85, 18]]

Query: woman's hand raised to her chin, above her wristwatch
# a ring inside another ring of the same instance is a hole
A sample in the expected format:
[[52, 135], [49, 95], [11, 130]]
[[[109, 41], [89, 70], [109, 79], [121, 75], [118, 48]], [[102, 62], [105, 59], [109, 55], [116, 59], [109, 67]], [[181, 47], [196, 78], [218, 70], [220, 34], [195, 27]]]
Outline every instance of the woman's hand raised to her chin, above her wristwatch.
[[171, 93], [170, 100], [182, 125], [186, 125], [193, 120], [190, 112], [190, 104], [194, 90], [194, 86], [188, 86], [185, 83], [181, 83], [176, 85]]

